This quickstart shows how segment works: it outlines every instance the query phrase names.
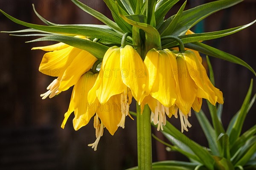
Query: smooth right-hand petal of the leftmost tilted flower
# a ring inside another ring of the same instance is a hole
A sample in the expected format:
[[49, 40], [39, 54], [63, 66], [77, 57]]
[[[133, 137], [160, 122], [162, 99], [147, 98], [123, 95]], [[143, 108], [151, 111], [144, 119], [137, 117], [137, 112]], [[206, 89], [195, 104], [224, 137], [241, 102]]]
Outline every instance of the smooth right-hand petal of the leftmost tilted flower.
[[92, 54], [82, 50], [64, 71], [58, 90], [66, 91], [68, 88], [75, 85], [81, 75], [89, 71], [96, 61], [97, 58], [95, 58]]

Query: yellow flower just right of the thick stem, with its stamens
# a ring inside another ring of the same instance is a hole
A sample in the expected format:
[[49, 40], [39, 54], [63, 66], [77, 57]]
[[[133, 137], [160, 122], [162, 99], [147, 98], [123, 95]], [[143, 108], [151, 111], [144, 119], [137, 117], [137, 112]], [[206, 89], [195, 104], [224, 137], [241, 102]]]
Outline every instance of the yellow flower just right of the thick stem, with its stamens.
[[146, 54], [144, 65], [147, 74], [146, 96], [144, 102], [148, 103], [154, 114], [154, 124], [158, 123], [157, 130], [163, 130], [169, 108], [177, 99], [178, 77], [173, 74], [177, 71], [176, 56], [172, 51], [151, 49]]

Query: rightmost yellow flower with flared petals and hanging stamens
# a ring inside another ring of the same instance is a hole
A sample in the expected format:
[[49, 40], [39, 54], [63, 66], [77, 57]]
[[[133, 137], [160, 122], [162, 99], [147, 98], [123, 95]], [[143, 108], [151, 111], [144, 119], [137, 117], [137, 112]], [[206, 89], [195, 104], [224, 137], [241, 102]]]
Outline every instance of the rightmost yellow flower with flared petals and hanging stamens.
[[172, 107], [172, 114], [177, 114], [179, 108], [183, 128], [187, 130], [187, 116], [191, 115], [191, 108], [199, 112], [202, 98], [209, 100], [212, 105], [216, 102], [223, 104], [223, 96], [222, 92], [212, 85], [206, 69], [192, 51], [173, 52], [177, 56], [178, 69], [175, 74], [178, 75], [179, 90], [175, 105]]

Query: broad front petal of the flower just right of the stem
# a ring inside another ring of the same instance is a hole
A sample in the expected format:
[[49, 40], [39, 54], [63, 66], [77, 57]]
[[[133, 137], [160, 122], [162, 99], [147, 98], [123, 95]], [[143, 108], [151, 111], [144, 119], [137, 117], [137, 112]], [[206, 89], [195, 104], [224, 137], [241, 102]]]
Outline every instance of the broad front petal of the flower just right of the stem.
[[157, 77], [152, 86], [151, 96], [168, 108], [171, 107], [177, 99], [177, 83], [172, 74], [172, 69], [177, 70], [177, 65], [175, 66], [175, 64], [174, 55], [163, 50], [159, 51]]

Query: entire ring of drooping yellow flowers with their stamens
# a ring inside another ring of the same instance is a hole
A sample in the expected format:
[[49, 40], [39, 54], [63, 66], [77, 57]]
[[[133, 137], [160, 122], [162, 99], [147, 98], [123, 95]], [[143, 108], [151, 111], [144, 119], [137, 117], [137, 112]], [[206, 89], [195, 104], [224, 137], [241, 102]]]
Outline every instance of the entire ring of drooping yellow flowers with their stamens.
[[96, 141], [88, 145], [94, 150], [105, 127], [111, 135], [118, 127], [125, 127], [125, 117], [131, 117], [132, 98], [141, 109], [149, 105], [157, 130], [163, 130], [166, 115], [177, 118], [179, 113], [182, 132], [191, 127], [191, 108], [200, 111], [202, 98], [212, 105], [223, 103], [222, 93], [210, 82], [197, 51], [152, 48], [143, 61], [132, 46], [113, 46], [106, 51], [100, 70], [93, 71], [96, 57], [79, 48], [58, 43], [32, 49], [51, 51], [44, 54], [39, 71], [57, 77], [47, 87], [48, 91], [41, 94], [42, 99], [52, 98], [74, 85], [61, 127], [73, 112], [75, 130], [87, 125], [94, 116]]

